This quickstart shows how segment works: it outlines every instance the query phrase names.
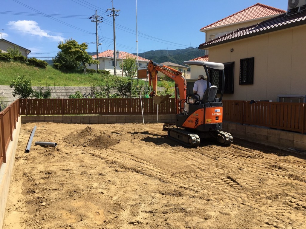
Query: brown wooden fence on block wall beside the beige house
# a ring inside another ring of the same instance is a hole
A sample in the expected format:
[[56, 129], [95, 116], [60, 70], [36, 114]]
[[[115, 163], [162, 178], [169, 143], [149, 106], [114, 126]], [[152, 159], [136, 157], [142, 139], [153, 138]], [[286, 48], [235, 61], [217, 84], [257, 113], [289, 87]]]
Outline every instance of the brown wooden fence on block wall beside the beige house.
[[223, 120], [305, 133], [306, 104], [223, 100]]

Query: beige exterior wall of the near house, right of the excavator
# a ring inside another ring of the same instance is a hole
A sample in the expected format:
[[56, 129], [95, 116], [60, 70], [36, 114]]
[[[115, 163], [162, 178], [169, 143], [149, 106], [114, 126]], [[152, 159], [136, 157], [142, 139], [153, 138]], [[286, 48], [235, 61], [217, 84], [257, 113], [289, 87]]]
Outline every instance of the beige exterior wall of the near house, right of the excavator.
[[[306, 25], [211, 47], [209, 61], [235, 62], [234, 94], [223, 98], [277, 101], [277, 95], [306, 95], [305, 35]], [[254, 84], [239, 85], [240, 59], [250, 57]]]

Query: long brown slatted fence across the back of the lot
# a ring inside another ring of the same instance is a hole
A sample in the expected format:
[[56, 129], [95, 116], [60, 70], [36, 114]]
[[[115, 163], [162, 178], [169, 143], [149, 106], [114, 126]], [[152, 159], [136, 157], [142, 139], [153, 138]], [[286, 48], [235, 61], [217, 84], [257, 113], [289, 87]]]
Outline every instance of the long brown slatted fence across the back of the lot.
[[[151, 98], [140, 99], [19, 99], [21, 115], [144, 115], [176, 114], [175, 99], [158, 108]], [[141, 107], [142, 105], [142, 107]]]

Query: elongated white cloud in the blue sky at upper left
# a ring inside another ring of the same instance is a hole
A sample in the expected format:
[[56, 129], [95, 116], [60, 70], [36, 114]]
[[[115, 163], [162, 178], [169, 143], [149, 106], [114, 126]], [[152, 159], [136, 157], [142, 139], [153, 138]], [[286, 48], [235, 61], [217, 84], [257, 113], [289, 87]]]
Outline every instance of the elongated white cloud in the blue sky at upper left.
[[65, 38], [61, 36], [52, 36], [48, 34], [46, 31], [40, 29], [36, 21], [30, 21], [30, 20], [9, 21], [8, 25], [11, 26], [12, 29], [16, 29], [34, 36], [51, 38], [55, 41], [65, 40]]

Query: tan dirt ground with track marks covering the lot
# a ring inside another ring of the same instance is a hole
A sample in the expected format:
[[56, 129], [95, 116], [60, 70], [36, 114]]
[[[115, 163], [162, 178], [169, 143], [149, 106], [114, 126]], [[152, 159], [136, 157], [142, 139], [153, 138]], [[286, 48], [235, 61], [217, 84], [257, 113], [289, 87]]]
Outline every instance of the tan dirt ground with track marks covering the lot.
[[306, 160], [239, 139], [184, 147], [160, 123], [23, 124], [3, 228], [306, 228]]

